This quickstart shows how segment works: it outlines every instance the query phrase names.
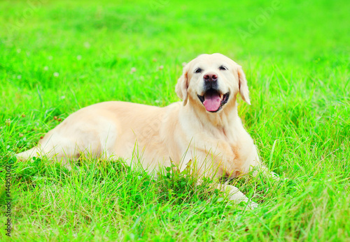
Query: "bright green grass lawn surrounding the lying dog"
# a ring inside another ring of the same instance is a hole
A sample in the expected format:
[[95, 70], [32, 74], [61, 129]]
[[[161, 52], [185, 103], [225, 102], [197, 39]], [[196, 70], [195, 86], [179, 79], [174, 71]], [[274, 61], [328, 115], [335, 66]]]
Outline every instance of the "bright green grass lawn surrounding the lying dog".
[[[29, 2], [0, 1], [0, 240], [350, 241], [349, 1], [273, 11], [258, 0]], [[71, 171], [14, 162], [5, 235], [5, 166], [55, 116], [106, 100], [178, 101], [182, 63], [213, 52], [243, 66], [252, 105], [239, 102], [239, 115], [265, 164], [288, 178], [234, 181], [258, 209], [118, 160]]]

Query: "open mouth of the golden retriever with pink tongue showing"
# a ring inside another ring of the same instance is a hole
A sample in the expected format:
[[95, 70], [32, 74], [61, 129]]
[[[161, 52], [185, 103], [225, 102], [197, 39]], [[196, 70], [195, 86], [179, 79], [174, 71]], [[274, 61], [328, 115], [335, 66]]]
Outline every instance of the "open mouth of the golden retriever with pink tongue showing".
[[228, 103], [230, 92], [222, 94], [215, 89], [209, 89], [203, 96], [197, 95], [208, 112], [218, 112], [223, 105]]

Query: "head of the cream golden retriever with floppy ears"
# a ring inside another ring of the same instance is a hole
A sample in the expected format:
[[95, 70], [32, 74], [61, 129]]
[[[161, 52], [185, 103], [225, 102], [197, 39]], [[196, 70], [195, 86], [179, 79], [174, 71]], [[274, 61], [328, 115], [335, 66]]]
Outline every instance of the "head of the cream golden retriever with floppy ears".
[[183, 68], [175, 91], [183, 100], [200, 104], [207, 112], [219, 112], [241, 94], [249, 105], [246, 76], [241, 66], [223, 54], [201, 54]]

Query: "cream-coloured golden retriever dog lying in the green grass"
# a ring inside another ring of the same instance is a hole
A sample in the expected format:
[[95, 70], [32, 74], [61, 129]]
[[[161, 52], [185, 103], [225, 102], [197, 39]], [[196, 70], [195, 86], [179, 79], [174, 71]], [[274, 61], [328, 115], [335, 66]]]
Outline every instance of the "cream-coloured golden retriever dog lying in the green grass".
[[[149, 172], [172, 163], [182, 171], [192, 160], [197, 174], [214, 179], [233, 179], [254, 167], [266, 169], [237, 113], [238, 93], [250, 105], [241, 66], [223, 54], [202, 54], [183, 68], [175, 91], [182, 102], [167, 107], [118, 101], [84, 107], [17, 157], [62, 161], [87, 154], [114, 156], [128, 165], [137, 160]], [[249, 202], [234, 186], [217, 187], [234, 201]]]

